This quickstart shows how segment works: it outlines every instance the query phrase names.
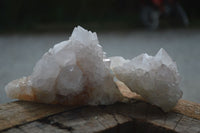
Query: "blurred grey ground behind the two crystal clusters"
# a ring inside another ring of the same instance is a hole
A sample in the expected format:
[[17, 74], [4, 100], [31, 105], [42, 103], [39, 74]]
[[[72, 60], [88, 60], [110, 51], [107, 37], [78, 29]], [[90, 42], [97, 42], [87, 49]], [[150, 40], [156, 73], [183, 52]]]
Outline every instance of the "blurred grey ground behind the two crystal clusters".
[[[36, 61], [70, 33], [0, 35], [0, 103], [9, 102], [4, 86], [31, 74]], [[182, 76], [183, 98], [200, 103], [200, 30], [100, 32], [100, 44], [108, 56], [133, 58], [162, 47], [177, 62]]]

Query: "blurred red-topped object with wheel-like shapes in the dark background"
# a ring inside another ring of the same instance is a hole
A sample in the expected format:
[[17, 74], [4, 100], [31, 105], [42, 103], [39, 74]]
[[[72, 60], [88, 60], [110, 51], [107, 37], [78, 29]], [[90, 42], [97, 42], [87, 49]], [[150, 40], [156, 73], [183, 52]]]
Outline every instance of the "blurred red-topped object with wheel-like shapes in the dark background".
[[188, 26], [189, 20], [178, 0], [141, 0], [141, 21], [149, 29], [159, 27], [160, 17]]

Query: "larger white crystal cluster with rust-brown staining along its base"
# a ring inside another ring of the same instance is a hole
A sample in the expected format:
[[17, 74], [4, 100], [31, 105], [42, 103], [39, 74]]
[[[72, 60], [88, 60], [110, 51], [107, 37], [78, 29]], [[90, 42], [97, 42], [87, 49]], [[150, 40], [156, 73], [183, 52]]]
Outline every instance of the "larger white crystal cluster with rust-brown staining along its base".
[[29, 77], [10, 82], [6, 93], [19, 99], [34, 93], [31, 96], [44, 103], [57, 102], [59, 97], [67, 97], [68, 103], [73, 96], [85, 97], [81, 100], [91, 105], [114, 103], [121, 99], [121, 93], [105, 57], [96, 33], [78, 26], [68, 41], [56, 44], [42, 56]]

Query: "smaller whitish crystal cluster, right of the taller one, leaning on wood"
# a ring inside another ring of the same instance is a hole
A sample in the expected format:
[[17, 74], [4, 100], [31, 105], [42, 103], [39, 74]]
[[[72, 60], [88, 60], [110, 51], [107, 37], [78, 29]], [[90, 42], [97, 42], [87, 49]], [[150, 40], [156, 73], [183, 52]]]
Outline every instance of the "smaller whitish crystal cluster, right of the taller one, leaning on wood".
[[164, 111], [172, 109], [182, 97], [176, 63], [164, 49], [155, 56], [141, 54], [132, 60], [111, 57], [116, 77], [132, 91]]

